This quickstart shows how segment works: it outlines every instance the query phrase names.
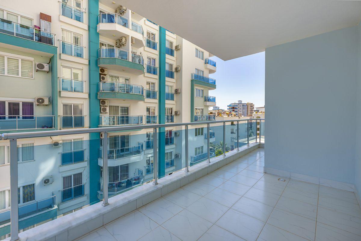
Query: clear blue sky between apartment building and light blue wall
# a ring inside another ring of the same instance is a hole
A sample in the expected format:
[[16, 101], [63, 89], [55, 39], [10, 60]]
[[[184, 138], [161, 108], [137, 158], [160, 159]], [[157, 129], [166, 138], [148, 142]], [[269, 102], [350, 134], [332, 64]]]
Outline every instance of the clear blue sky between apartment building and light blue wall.
[[216, 103], [222, 109], [238, 100], [252, 102], [255, 107], [265, 104], [265, 52], [223, 61], [216, 56], [217, 71], [210, 74], [216, 79], [217, 89], [209, 91], [216, 96]]

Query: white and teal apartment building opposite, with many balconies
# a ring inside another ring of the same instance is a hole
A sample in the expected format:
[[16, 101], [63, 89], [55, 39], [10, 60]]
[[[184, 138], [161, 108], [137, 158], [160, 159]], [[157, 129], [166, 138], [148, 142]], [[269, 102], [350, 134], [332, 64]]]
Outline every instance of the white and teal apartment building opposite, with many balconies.
[[[109, 1], [40, 2], [0, 3], [0, 134], [144, 125], [108, 133], [108, 192], [115, 195], [153, 179], [147, 124], [215, 119], [208, 115], [216, 105], [212, 54]], [[193, 164], [207, 158], [206, 125], [197, 127], [189, 131]], [[158, 134], [164, 176], [185, 166], [184, 128]], [[20, 231], [103, 198], [101, 138], [18, 141]], [[1, 239], [10, 233], [9, 163], [9, 141], [0, 141]]]

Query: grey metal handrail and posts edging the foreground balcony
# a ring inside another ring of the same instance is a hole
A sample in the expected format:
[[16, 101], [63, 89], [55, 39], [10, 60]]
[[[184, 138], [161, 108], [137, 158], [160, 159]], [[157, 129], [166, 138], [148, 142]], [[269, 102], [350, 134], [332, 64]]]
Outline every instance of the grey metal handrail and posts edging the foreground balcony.
[[[148, 117], [148, 116], [147, 116]], [[216, 124], [216, 123], [222, 123], [223, 124], [223, 156], [226, 155], [226, 134], [225, 134], [225, 126], [226, 123], [229, 122], [236, 122], [237, 124], [237, 133], [239, 133], [239, 122], [247, 122], [247, 145], [249, 146], [249, 128], [250, 122], [256, 122], [256, 135], [255, 135], [255, 141], [257, 143], [257, 139], [259, 142], [261, 142], [261, 133], [262, 133], [262, 125], [259, 125], [257, 128], [257, 122], [260, 123], [261, 121], [264, 121], [264, 119], [247, 119], [247, 120], [215, 120], [215, 121], [203, 121], [203, 122], [185, 122], [185, 123], [170, 123], [170, 124], [150, 124], [146, 128], [152, 128], [153, 129], [153, 156], [154, 156], [154, 181], [153, 184], [158, 184], [158, 152], [157, 152], [157, 142], [158, 142], [158, 128], [170, 128], [173, 126], [185, 126], [185, 148], [186, 148], [186, 154], [185, 154], [185, 162], [186, 167], [185, 171], [189, 171], [189, 166], [193, 162], [196, 162], [197, 159], [200, 159], [200, 157], [194, 156], [191, 158], [191, 163], [188, 159], [188, 127], [192, 125], [207, 125], [207, 135], [210, 135], [210, 124]], [[23, 133], [3, 133], [1, 134], [2, 140], [9, 140], [10, 141], [10, 197], [11, 197], [11, 239], [17, 240], [18, 237], [18, 231], [19, 231], [19, 205], [18, 205], [18, 151], [17, 151], [17, 145], [19, 138], [35, 138], [35, 137], [51, 137], [51, 136], [57, 136], [57, 135], [71, 135], [71, 134], [85, 134], [85, 133], [103, 133], [103, 147], [104, 150], [101, 150], [100, 157], [103, 158], [103, 170], [108, 170], [108, 157], [110, 158], [121, 158], [128, 155], [133, 155], [134, 153], [139, 153], [143, 151], [143, 144], [138, 145], [135, 147], [125, 147], [125, 149], [120, 151], [121, 149], [112, 149], [108, 150], [108, 132], [117, 132], [117, 131], [129, 131], [129, 130], [140, 130], [144, 129], [144, 125], [131, 125], [131, 126], [114, 126], [114, 127], [101, 127], [101, 128], [87, 128], [87, 129], [69, 129], [69, 130], [50, 130], [50, 131], [44, 131], [44, 132], [23, 132]], [[258, 132], [260, 133], [259, 135]], [[213, 152], [210, 150], [210, 138], [207, 138], [207, 157], [208, 162], [210, 162], [210, 157], [213, 155]], [[239, 138], [237, 137], [239, 140]], [[237, 150], [239, 150], [239, 141], [236, 141]], [[133, 149], [133, 150], [131, 150]], [[204, 155], [204, 154], [203, 154]], [[203, 156], [204, 157], [204, 156]], [[166, 167], [171, 167], [174, 165], [174, 159], [166, 160]], [[141, 171], [143, 172], [143, 171]], [[139, 175], [142, 176], [142, 175]], [[109, 180], [108, 180], [108, 174], [107, 172], [103, 172], [103, 183], [105, 183], [105, 186], [109, 186]], [[69, 200], [71, 198], [79, 197], [81, 195], [84, 195], [84, 184], [80, 184], [77, 186], [69, 187], [60, 190], [62, 193], [62, 201]], [[103, 190], [103, 206], [109, 205], [108, 203], [108, 189]]]

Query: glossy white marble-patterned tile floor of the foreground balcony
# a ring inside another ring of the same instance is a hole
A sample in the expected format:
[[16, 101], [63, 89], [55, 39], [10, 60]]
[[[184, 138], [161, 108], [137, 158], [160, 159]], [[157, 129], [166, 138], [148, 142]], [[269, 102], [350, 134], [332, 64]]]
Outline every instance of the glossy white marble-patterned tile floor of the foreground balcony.
[[361, 240], [354, 193], [263, 173], [257, 149], [81, 241]]

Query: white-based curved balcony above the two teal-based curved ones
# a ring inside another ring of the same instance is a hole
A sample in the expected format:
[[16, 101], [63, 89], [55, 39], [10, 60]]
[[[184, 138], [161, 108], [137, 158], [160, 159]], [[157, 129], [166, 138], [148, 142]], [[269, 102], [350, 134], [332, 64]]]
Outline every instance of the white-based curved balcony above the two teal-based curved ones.
[[117, 40], [126, 35], [134, 38], [134, 48], [145, 46], [143, 27], [139, 23], [117, 13], [100, 13], [98, 21], [97, 31], [101, 36]]

